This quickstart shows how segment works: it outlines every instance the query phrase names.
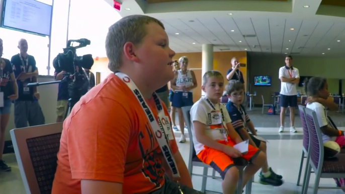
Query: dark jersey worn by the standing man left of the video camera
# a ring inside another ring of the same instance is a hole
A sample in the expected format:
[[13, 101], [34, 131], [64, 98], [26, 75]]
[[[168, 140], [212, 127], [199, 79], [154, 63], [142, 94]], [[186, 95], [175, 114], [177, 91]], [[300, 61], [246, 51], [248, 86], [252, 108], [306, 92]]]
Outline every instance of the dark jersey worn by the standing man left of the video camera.
[[[36, 60], [33, 56], [28, 55], [27, 58], [21, 59], [19, 54], [12, 56], [11, 63], [13, 72], [16, 79], [24, 73], [31, 73], [36, 70]], [[28, 65], [27, 65], [28, 64]], [[27, 87], [28, 83], [32, 83], [32, 78], [27, 78], [24, 81], [17, 79], [18, 84], [18, 100], [17, 101], [33, 101], [34, 100], [34, 87]]]

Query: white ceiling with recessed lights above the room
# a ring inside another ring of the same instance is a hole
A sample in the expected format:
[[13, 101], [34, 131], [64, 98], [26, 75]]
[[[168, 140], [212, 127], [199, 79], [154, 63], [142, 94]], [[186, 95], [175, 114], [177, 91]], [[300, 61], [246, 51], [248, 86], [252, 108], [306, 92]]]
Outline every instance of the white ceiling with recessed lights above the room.
[[[105, 1], [112, 5], [112, 0]], [[145, 14], [161, 20], [170, 47], [176, 52], [201, 52], [202, 44], [213, 44], [214, 51], [246, 49], [303, 56], [343, 56], [345, 18], [325, 15], [341, 16], [345, 8], [320, 6], [320, 3], [321, 0], [213, 0], [147, 4], [144, 0], [123, 0], [119, 13], [121, 16]], [[310, 7], [303, 8], [305, 5]]]

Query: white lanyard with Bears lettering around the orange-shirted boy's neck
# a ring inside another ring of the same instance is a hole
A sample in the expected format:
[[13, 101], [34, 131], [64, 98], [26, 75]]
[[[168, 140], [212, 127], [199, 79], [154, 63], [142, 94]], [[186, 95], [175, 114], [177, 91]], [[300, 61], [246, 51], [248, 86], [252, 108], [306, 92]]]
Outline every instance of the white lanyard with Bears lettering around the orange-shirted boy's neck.
[[[174, 155], [172, 155], [172, 152], [168, 143], [168, 138], [166, 136], [167, 126], [166, 126], [166, 121], [164, 121], [165, 114], [164, 114], [163, 106], [161, 105], [161, 102], [157, 94], [154, 92], [153, 98], [154, 98], [154, 102], [156, 103], [156, 109], [158, 112], [158, 122], [156, 121], [150, 107], [147, 106], [147, 103], [145, 102], [138, 87], [131, 80], [131, 78], [129, 78], [129, 76], [121, 72], [117, 72], [115, 75], [118, 76], [132, 90], [133, 94], [135, 95], [135, 98], [138, 100], [139, 104], [141, 105], [141, 108], [144, 111], [147, 117], [147, 120], [150, 122], [151, 128], [153, 130], [153, 133], [156, 136], [159, 147], [162, 150], [163, 156], [172, 172], [172, 177], [174, 177], [174, 179], [179, 179], [180, 178], [179, 169], [176, 165]], [[183, 194], [180, 188], [180, 184], [178, 184], [178, 187], [179, 187], [180, 193]]]

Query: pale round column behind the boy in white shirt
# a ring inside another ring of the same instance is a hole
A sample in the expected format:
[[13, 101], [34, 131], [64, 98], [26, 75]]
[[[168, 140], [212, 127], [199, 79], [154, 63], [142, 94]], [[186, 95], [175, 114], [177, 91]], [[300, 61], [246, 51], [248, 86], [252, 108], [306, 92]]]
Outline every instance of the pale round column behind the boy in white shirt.
[[[203, 44], [202, 45], [202, 64], [201, 64], [201, 77], [207, 71], [213, 70], [213, 45]], [[202, 83], [198, 83], [202, 84]], [[205, 95], [204, 91], [201, 91], [201, 95]]]

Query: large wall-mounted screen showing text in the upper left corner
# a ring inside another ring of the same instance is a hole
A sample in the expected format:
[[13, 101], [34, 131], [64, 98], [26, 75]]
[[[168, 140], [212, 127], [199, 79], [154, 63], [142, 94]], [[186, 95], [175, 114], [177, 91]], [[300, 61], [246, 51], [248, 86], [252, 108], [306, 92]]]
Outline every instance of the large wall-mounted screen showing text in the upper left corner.
[[52, 6], [35, 0], [5, 0], [1, 26], [49, 36]]

